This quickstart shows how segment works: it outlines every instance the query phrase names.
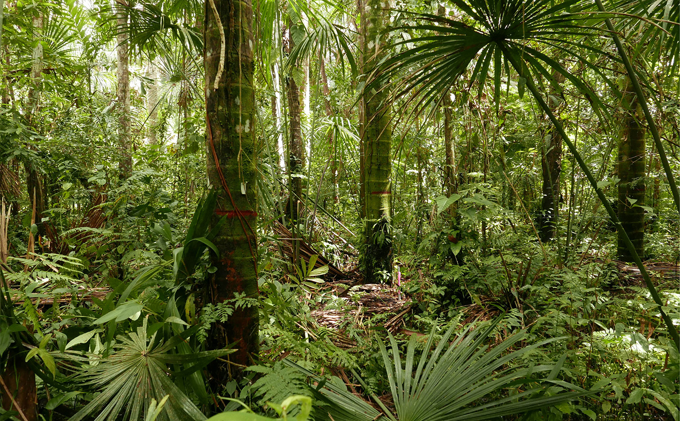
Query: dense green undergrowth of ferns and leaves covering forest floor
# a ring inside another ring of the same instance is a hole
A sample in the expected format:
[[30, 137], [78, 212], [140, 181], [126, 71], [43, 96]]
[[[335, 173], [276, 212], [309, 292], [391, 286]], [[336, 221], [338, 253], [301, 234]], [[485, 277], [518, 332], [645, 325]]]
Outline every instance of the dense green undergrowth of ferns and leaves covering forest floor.
[[[25, 253], [20, 237], [28, 231], [10, 233], [17, 241], [3, 265], [10, 288], [3, 294], [0, 354], [3, 364], [26, 361], [31, 373], [39, 375], [37, 401], [44, 419], [97, 414], [137, 419], [153, 413], [151, 399], [166, 408], [158, 412], [159, 419], [196, 419], [216, 409], [238, 409], [240, 404], [231, 399], [268, 416], [277, 411], [299, 415], [290, 401], [285, 411], [275, 405], [293, 396], [305, 405], [302, 397], [311, 399], [313, 419], [328, 419], [328, 413], [340, 412], [333, 409], [337, 402], [320, 390], [347, 387], [369, 401], [379, 397], [394, 412], [389, 380], [394, 374], [388, 373], [388, 363], [394, 364], [399, 352], [406, 358], [412, 348], [415, 367], [418, 358], [432, 351], [425, 344], [428, 335], [433, 346], [445, 344], [451, 340], [447, 335], [469, 329], [479, 333], [491, 322], [483, 343], [499, 355], [517, 355], [492, 367], [475, 387], [488, 385], [492, 373], [512, 369], [521, 375], [503, 390], [481, 394], [475, 405], [529, 392], [534, 398], [568, 392], [573, 396], [547, 409], [503, 419], [677, 419], [677, 349], [641, 280], [626, 277], [609, 260], [607, 234], [565, 259], [564, 250], [541, 244], [530, 231], [498, 230], [486, 241], [469, 236], [456, 254], [441, 233], [433, 232], [420, 248], [396, 258], [400, 294], [410, 309], [392, 330], [394, 354], [383, 354], [387, 333], [382, 326], [394, 315], [359, 319], [360, 310], [352, 303], [360, 292], [350, 289], [349, 298], [339, 297], [322, 282], [324, 267], [313, 270], [313, 262], [291, 272], [279, 254], [284, 242], [273, 233], [262, 237], [260, 301], [237, 297], [204, 305], [202, 283], [212, 270], [207, 259], [211, 233], [201, 218], [209, 214], [211, 198], [201, 201], [185, 231], [182, 221], [190, 221], [182, 219], [182, 207], [163, 191], [127, 197], [127, 203], [103, 205], [109, 218], [105, 228], [63, 231], [60, 239], [68, 254], [37, 250], [30, 258], [19, 257]], [[135, 197], [153, 199], [141, 206]], [[660, 260], [677, 259], [662, 242], [650, 250]], [[335, 285], [349, 286], [353, 279], [337, 279]], [[677, 273], [661, 273], [655, 282], [666, 311], [679, 320]], [[240, 381], [216, 387], [205, 378], [211, 361], [226, 351], [205, 351], [205, 340], [211, 324], [228, 321], [235, 307], [245, 305], [260, 309], [260, 360]], [[315, 320], [313, 311], [320, 307], [350, 311], [336, 328], [328, 328]], [[414, 332], [422, 340], [409, 341]], [[446, 384], [445, 375], [442, 381], [441, 388], [454, 386]], [[360, 403], [350, 399], [348, 405]]]

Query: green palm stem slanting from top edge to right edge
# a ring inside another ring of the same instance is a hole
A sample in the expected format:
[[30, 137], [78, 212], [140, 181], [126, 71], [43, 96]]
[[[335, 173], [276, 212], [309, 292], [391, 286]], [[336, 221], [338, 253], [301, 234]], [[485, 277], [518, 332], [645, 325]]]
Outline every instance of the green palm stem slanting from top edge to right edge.
[[[607, 10], [605, 10], [605, 7], [602, 5], [602, 1], [600, 0], [595, 0], [595, 3], [597, 3], [597, 7], [600, 10], [600, 12], [606, 13]], [[635, 91], [635, 95], [638, 97], [638, 102], [640, 103], [640, 106], [642, 107], [642, 111], [645, 114], [645, 119], [647, 120], [647, 126], [649, 126], [649, 132], [651, 133], [651, 137], [654, 139], [654, 145], [656, 146], [656, 150], [659, 153], [659, 158], [661, 160], [661, 164], [664, 166], [664, 171], [666, 172], [666, 178], [668, 178], [668, 186], [670, 187], [670, 192], [673, 195], [673, 201], [675, 202], [675, 208], [677, 209], [677, 212], [680, 214], [680, 192], [678, 192], [678, 186], [675, 184], [675, 178], [673, 177], [673, 171], [670, 170], [670, 165], [668, 164], [668, 158], [666, 157], [666, 152], [664, 152], [664, 146], [661, 144], [661, 137], [659, 136], [659, 131], [656, 129], [656, 124], [654, 124], [654, 119], [651, 117], [651, 113], [649, 112], [649, 107], [647, 107], [647, 100], [645, 99], [645, 94], [642, 92], [642, 88], [640, 86], [640, 83], [638, 82], [635, 71], [633, 70], [632, 65], [630, 64], [630, 59], [628, 59], [628, 54], [626, 54], [626, 50], [624, 50], [624, 46], [621, 42], [621, 39], [619, 38], [619, 35], [617, 35], [614, 25], [611, 24], [611, 20], [609, 18], [605, 18], [605, 24], [607, 24], [607, 29], [611, 32], [611, 38], [614, 41], [614, 44], [616, 44], [616, 49], [619, 52], [619, 56], [621, 57], [621, 61], [624, 63], [624, 66], [626, 66], [626, 72], [628, 73], [628, 77], [630, 78], [630, 82], [632, 83], [633, 89]]]

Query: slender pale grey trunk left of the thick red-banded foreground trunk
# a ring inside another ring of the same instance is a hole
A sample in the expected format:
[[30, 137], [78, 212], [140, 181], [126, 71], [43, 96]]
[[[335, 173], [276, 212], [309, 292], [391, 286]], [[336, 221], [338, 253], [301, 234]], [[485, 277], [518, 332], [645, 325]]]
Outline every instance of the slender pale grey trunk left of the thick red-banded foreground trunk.
[[118, 63], [116, 64], [116, 83], [118, 93], [118, 141], [120, 144], [120, 158], [118, 160], [119, 177], [121, 180], [129, 178], [132, 172], [132, 122], [130, 118], [130, 74], [129, 74], [129, 52], [128, 34], [122, 29], [127, 27], [127, 12], [120, 6], [116, 12], [116, 22], [118, 24], [118, 35], [116, 42], [116, 52]]

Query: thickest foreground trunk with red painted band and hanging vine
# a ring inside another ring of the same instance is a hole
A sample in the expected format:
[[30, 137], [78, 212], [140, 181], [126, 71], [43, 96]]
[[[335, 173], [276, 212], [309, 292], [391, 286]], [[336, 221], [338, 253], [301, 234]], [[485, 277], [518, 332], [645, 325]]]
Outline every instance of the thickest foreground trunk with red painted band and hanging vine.
[[[209, 280], [207, 301], [219, 305], [238, 297], [258, 297], [253, 12], [250, 0], [205, 3], [207, 175], [211, 188], [218, 191], [211, 224], [226, 219], [213, 241], [219, 255], [212, 256], [217, 271]], [[211, 348], [234, 342], [238, 352], [228, 359], [235, 365], [211, 370], [216, 384], [240, 377], [241, 366], [250, 365], [258, 353], [256, 305], [237, 307], [214, 328]]]

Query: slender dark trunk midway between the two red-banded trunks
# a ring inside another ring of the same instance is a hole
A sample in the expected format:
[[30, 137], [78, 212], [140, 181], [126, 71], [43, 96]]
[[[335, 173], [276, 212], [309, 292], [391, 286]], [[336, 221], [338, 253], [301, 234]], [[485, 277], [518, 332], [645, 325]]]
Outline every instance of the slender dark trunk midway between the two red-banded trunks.
[[[292, 37], [292, 21], [288, 19], [288, 54], [295, 48]], [[299, 219], [302, 206], [302, 192], [305, 177], [305, 142], [302, 138], [300, 87], [295, 82], [294, 74], [300, 69], [295, 65], [290, 66], [290, 73], [286, 78], [288, 90], [288, 118], [290, 135], [288, 137], [288, 171], [290, 172], [290, 197], [286, 214], [288, 219], [294, 222]]]

